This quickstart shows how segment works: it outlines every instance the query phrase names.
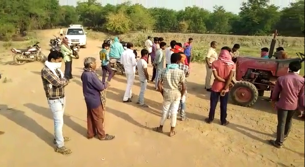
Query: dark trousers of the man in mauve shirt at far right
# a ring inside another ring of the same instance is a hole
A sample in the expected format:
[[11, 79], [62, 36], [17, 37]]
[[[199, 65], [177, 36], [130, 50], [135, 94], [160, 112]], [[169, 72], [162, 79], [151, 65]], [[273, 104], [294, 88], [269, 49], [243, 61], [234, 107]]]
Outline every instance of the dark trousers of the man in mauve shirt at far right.
[[284, 139], [288, 136], [291, 125], [294, 110], [277, 110], [277, 130], [276, 130], [276, 143], [283, 144]]

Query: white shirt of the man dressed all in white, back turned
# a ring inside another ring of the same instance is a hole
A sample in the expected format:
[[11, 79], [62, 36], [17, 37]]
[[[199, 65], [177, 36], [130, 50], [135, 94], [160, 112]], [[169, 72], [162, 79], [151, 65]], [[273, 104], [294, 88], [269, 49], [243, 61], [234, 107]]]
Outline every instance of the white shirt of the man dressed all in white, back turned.
[[134, 74], [136, 72], [137, 60], [133, 50], [126, 49], [122, 53], [121, 64], [123, 64], [126, 74]]

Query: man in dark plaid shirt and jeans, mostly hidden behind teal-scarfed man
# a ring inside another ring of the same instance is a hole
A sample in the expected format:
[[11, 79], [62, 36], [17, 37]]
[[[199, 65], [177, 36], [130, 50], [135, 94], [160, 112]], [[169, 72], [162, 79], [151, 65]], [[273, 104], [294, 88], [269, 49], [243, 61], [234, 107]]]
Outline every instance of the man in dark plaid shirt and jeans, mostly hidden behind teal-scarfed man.
[[[180, 62], [178, 64], [179, 66], [179, 69], [184, 71], [184, 74], [185, 74], [185, 77], [188, 77], [190, 75], [190, 67], [183, 64], [184, 60], [182, 60], [182, 56], [180, 55]], [[185, 84], [186, 84], [186, 81], [185, 81]], [[181, 116], [181, 121], [184, 121], [186, 120], [186, 115], [185, 115], [185, 108], [186, 108], [186, 104], [185, 104], [185, 101], [186, 101], [186, 93], [187, 91], [184, 92], [182, 98], [181, 98], [181, 101], [180, 101], [180, 106], [179, 106], [179, 109], [180, 109], [180, 116]], [[179, 110], [178, 109], [178, 110]], [[168, 113], [168, 118], [167, 119], [170, 119], [171, 118], [171, 113]]]

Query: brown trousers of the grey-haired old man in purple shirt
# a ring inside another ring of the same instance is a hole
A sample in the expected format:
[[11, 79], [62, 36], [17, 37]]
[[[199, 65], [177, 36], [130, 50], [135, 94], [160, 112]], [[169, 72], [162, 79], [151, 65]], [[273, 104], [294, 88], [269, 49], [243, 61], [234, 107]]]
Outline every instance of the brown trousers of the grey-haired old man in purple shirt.
[[105, 138], [104, 110], [102, 105], [96, 109], [87, 106], [87, 137], [92, 138], [97, 135], [99, 139]]

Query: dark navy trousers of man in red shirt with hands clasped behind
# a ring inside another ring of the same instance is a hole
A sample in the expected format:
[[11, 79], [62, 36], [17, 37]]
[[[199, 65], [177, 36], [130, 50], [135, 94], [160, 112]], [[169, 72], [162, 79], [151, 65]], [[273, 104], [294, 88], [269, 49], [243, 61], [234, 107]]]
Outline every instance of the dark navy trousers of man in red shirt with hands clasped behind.
[[220, 96], [220, 92], [211, 91], [209, 120], [214, 120], [218, 99], [220, 99], [220, 122], [223, 124], [227, 122], [227, 105], [229, 99], [228, 92], [225, 94], [225, 96]]

